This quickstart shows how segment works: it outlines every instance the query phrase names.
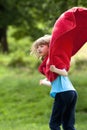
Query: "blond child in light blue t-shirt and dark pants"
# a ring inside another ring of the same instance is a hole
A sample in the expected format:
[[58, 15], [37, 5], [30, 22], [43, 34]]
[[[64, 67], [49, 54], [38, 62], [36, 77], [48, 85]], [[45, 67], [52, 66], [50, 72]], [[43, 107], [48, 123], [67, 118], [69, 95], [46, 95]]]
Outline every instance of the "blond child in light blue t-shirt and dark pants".
[[[49, 61], [49, 43], [51, 36], [45, 35], [37, 39], [32, 46], [32, 53], [42, 59], [39, 66], [39, 71], [46, 75], [46, 65]], [[50, 82], [47, 79], [41, 80], [40, 84], [51, 85], [50, 95], [54, 98], [53, 110], [50, 119], [50, 129], [60, 130], [60, 125], [63, 125], [64, 130], [75, 130], [75, 104], [77, 93], [67, 77], [65, 68], [58, 69], [55, 65], [50, 65], [50, 71], [56, 73], [58, 77]]]

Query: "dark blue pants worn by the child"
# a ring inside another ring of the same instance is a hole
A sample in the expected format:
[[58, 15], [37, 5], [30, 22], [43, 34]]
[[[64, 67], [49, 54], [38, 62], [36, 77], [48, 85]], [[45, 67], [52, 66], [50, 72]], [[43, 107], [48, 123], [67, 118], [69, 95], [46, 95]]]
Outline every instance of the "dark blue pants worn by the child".
[[61, 125], [64, 130], [75, 130], [76, 100], [76, 91], [66, 91], [56, 94], [49, 123], [51, 130], [60, 130]]

